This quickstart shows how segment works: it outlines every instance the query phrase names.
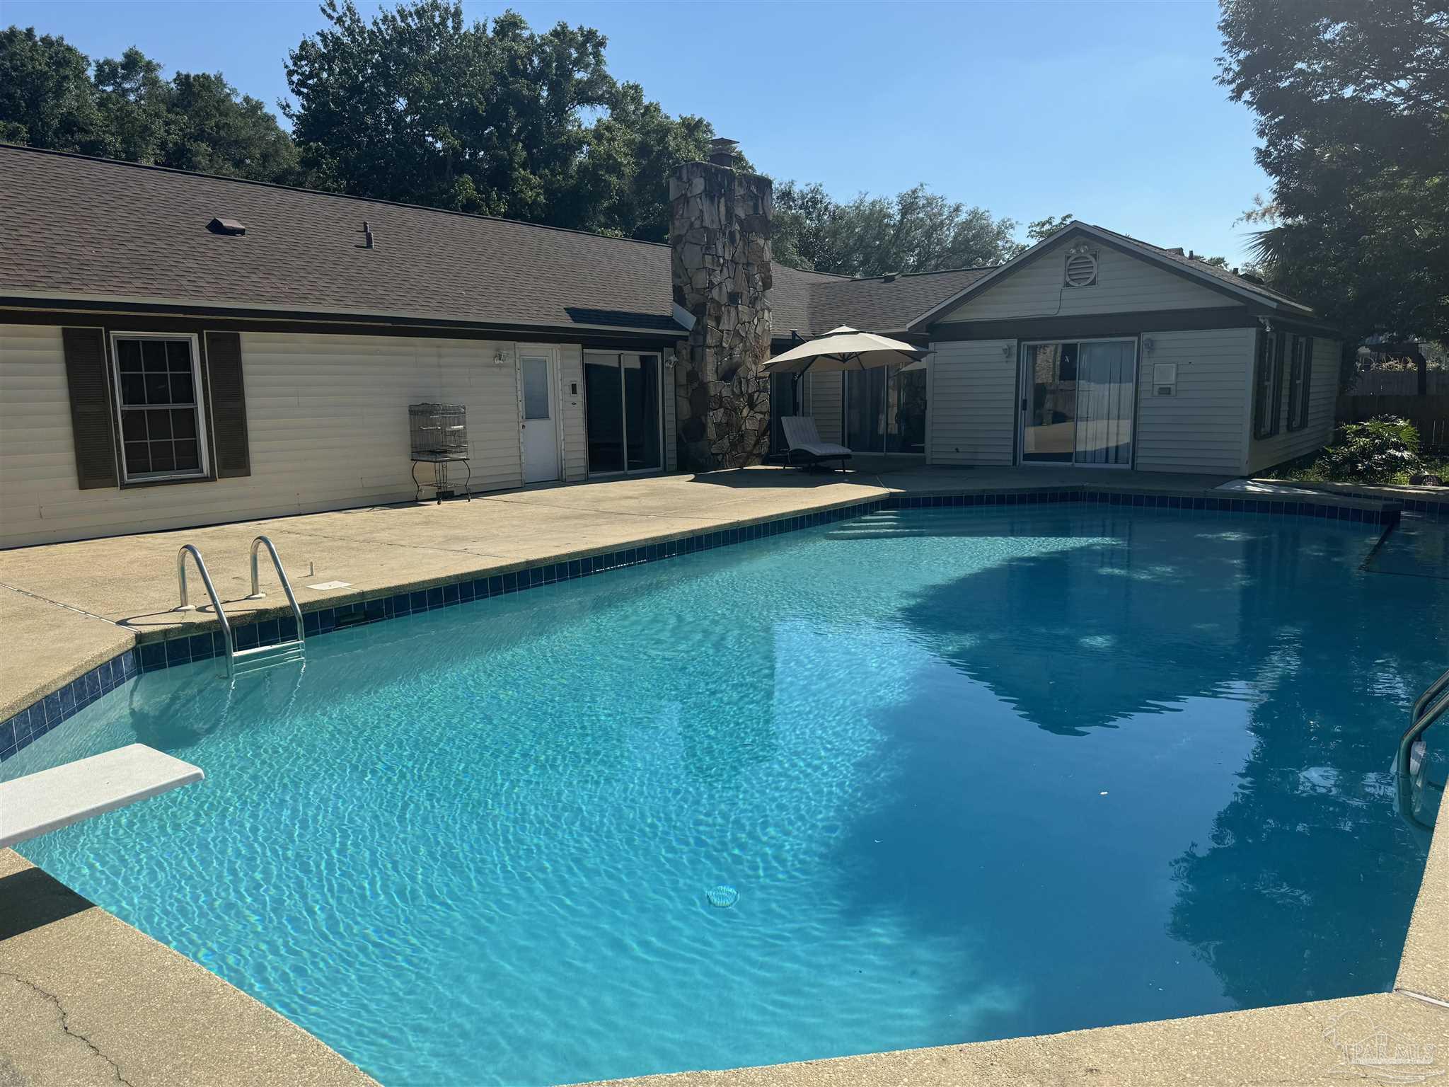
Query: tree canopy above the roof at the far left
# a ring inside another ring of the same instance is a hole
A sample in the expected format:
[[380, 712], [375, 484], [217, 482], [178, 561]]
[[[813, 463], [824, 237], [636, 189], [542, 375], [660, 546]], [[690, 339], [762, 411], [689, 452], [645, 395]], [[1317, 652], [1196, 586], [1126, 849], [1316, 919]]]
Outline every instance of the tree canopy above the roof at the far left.
[[177, 72], [139, 49], [96, 62], [64, 38], [0, 30], [0, 139], [262, 181], [294, 180], [291, 138], [219, 72]]

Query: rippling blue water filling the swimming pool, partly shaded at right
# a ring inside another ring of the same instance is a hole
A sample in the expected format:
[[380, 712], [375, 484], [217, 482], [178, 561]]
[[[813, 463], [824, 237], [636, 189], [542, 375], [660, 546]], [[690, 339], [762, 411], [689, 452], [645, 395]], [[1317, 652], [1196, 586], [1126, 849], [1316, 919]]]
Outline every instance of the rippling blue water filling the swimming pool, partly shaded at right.
[[329, 635], [230, 699], [151, 672], [3, 772], [201, 765], [23, 852], [385, 1084], [1387, 990], [1449, 581], [1361, 570], [1378, 535], [878, 513]]

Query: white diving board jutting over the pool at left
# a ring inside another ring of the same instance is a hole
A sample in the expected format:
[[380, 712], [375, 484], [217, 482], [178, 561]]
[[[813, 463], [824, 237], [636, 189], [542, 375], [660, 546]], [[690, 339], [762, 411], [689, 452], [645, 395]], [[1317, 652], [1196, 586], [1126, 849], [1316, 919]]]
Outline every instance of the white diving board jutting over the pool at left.
[[203, 778], [201, 768], [130, 744], [0, 783], [0, 849]]

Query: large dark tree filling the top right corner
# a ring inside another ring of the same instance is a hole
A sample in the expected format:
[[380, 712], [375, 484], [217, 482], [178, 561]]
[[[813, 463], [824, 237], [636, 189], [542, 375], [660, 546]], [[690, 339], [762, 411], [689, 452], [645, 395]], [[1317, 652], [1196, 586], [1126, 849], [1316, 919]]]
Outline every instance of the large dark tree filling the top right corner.
[[1449, 7], [1223, 0], [1219, 81], [1256, 114], [1268, 281], [1350, 338], [1449, 338]]

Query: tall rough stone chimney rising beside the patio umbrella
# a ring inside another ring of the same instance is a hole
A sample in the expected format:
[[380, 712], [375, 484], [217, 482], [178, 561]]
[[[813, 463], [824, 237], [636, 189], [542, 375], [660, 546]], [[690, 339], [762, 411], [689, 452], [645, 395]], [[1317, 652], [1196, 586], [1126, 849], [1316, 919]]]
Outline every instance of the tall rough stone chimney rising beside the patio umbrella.
[[674, 301], [694, 320], [678, 346], [674, 396], [680, 467], [758, 464], [769, 442], [769, 178], [730, 164], [735, 141], [716, 139], [709, 162], [669, 178]]

